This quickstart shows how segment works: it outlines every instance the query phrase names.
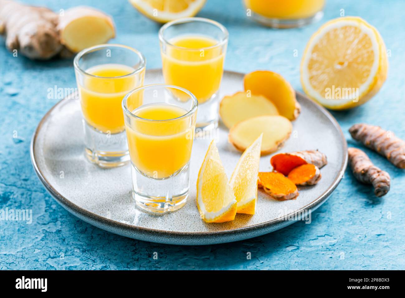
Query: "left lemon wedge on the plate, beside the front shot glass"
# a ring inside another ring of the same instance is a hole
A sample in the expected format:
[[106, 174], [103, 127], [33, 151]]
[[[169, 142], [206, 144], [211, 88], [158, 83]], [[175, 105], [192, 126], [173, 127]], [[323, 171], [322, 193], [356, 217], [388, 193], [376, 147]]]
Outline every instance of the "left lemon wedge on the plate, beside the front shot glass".
[[211, 141], [198, 172], [197, 208], [207, 223], [232, 221], [236, 215], [237, 201], [214, 141]]

